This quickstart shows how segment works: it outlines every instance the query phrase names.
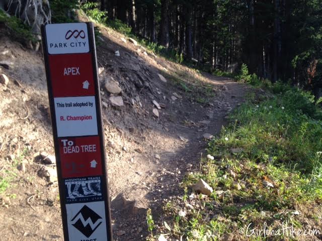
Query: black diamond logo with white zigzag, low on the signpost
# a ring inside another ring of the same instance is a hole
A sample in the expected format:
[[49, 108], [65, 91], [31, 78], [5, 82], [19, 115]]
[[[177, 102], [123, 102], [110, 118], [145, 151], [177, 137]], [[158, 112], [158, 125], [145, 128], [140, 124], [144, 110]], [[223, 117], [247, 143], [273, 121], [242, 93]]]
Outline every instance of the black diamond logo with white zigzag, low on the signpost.
[[86, 205], [71, 219], [71, 224], [87, 237], [90, 237], [102, 222], [103, 218]]

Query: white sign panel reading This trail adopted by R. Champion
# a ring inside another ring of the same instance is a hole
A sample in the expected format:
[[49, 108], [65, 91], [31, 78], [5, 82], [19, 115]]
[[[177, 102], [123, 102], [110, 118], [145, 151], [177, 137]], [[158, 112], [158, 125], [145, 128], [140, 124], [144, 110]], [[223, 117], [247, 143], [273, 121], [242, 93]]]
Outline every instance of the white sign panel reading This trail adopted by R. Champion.
[[95, 96], [54, 98], [58, 137], [98, 135]]

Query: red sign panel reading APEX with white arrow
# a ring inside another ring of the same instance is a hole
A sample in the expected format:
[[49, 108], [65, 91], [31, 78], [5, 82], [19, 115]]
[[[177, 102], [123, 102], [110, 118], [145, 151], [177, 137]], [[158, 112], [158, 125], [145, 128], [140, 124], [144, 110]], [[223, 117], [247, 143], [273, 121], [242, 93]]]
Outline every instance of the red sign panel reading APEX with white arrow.
[[49, 55], [54, 97], [95, 95], [92, 54]]

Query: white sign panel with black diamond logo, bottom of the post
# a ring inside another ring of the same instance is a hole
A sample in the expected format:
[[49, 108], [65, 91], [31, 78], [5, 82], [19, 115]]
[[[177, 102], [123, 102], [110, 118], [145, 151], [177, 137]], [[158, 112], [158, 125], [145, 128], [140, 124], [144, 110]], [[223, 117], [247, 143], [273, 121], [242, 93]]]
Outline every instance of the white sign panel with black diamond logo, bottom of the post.
[[66, 212], [69, 240], [108, 240], [104, 201], [66, 204]]

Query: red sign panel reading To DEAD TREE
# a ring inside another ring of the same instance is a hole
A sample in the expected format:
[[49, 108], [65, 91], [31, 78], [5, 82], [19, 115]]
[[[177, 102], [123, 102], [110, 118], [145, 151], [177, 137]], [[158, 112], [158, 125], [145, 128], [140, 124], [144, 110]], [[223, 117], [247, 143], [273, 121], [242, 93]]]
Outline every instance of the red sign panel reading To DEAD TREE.
[[100, 138], [60, 138], [62, 177], [88, 177], [102, 175]]

